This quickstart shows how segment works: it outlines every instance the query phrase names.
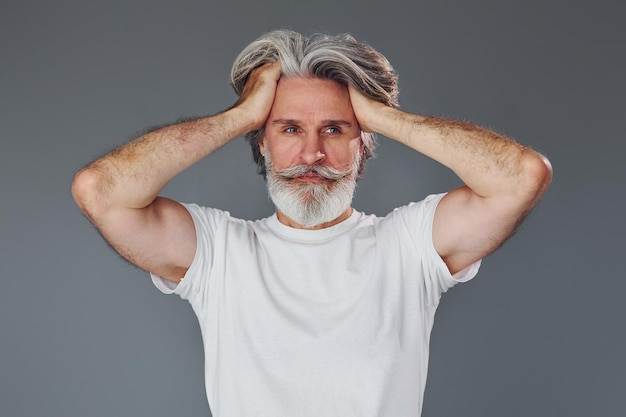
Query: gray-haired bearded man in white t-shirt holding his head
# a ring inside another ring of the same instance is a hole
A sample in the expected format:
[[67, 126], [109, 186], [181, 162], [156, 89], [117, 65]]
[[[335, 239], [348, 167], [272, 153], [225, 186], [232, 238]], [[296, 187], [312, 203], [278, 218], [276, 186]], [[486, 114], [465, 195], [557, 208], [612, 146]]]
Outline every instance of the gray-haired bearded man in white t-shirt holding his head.
[[[387, 60], [350, 36], [268, 33], [237, 58], [237, 103], [147, 133], [81, 170], [78, 205], [126, 259], [189, 300], [215, 416], [418, 416], [440, 295], [471, 279], [551, 179], [478, 126], [402, 112]], [[464, 182], [386, 217], [351, 207], [376, 132]], [[159, 197], [247, 134], [276, 214]]]

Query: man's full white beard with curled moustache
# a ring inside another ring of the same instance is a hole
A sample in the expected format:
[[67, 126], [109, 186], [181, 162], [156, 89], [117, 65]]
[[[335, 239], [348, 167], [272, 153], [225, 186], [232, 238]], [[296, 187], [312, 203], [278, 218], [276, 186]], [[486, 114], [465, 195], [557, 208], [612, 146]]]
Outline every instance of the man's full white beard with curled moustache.
[[[305, 228], [330, 222], [350, 207], [360, 162], [360, 155], [357, 155], [352, 166], [345, 171], [324, 165], [294, 165], [275, 170], [266, 149], [265, 168], [269, 196], [278, 210]], [[308, 172], [315, 172], [333, 182], [327, 184], [294, 179]]]

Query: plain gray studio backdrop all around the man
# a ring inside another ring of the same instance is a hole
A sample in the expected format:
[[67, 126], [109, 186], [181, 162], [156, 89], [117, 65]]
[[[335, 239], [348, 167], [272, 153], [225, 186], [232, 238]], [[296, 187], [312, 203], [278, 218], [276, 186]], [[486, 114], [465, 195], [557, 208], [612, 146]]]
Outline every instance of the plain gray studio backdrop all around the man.
[[[286, 27], [350, 32], [400, 75], [402, 108], [490, 126], [555, 178], [477, 279], [444, 296], [425, 417], [626, 415], [626, 6], [609, 1], [3, 1], [0, 414], [206, 416], [191, 308], [107, 248], [73, 174], [148, 126], [230, 106], [237, 53]], [[458, 180], [380, 138], [358, 209]], [[270, 214], [243, 139], [165, 194]]]

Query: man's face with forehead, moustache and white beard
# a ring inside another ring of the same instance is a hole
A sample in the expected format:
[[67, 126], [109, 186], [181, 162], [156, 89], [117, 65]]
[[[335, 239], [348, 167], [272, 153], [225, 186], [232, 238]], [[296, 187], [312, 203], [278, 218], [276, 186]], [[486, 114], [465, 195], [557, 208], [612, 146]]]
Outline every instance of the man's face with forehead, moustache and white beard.
[[339, 217], [352, 201], [362, 151], [347, 87], [281, 78], [260, 150], [280, 212], [304, 227]]

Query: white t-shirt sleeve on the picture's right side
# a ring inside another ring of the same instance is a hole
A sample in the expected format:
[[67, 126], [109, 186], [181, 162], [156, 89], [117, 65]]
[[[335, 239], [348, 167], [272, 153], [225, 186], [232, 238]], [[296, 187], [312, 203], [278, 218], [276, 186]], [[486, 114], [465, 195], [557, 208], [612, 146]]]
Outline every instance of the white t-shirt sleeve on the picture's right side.
[[481, 260], [452, 275], [448, 266], [437, 253], [433, 243], [433, 221], [439, 201], [445, 194], [429, 195], [418, 203], [411, 203], [394, 211], [412, 237], [420, 259], [424, 279], [425, 297], [430, 305], [437, 305], [441, 294], [458, 284], [474, 278]]

